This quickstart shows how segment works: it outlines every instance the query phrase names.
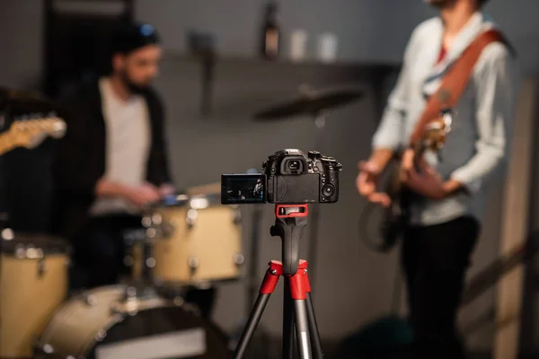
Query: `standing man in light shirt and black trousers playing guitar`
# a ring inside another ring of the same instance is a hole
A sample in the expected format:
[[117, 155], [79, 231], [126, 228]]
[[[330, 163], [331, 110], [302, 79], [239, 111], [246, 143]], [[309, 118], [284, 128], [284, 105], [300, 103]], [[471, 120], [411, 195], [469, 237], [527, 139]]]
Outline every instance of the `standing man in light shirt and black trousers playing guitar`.
[[458, 92], [451, 86], [446, 97], [440, 96], [447, 77], [466, 75], [452, 72], [464, 61], [466, 49], [477, 47], [474, 40], [484, 32], [497, 31], [482, 13], [487, 0], [427, 2], [439, 16], [411, 34], [402, 72], [373, 138], [373, 153], [359, 163], [357, 187], [370, 202], [390, 206], [390, 197], [376, 189], [378, 175], [399, 148], [411, 144], [423, 112], [434, 101], [440, 102], [439, 109], [447, 104], [454, 109], [451, 134], [439, 157], [426, 153], [418, 168], [411, 149], [402, 155], [402, 180], [416, 198], [402, 232], [402, 266], [415, 337], [412, 357], [458, 359], [466, 356], [456, 314], [481, 230], [487, 186], [507, 158], [516, 79], [508, 44], [493, 37], [483, 41], [468, 65], [458, 98], [451, 98]]

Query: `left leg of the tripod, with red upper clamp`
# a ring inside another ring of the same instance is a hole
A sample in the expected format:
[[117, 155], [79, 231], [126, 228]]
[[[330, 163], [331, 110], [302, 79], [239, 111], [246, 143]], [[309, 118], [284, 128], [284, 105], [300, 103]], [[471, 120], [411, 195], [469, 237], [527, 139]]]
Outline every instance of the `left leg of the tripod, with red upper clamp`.
[[278, 277], [283, 275], [283, 266], [280, 262], [272, 260], [270, 268], [266, 271], [264, 280], [262, 281], [259, 296], [252, 307], [251, 315], [247, 320], [247, 325], [243, 329], [242, 337], [234, 350], [234, 359], [241, 359], [245, 355], [245, 351], [251, 342], [252, 335], [261, 321], [262, 314], [266, 308], [266, 304], [270, 300], [270, 295], [275, 290], [278, 284]]

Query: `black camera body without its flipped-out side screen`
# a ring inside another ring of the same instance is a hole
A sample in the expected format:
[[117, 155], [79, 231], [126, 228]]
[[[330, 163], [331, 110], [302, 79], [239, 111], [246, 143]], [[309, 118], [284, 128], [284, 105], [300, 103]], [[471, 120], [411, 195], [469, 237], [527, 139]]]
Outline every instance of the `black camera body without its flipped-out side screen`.
[[262, 164], [267, 201], [276, 204], [335, 203], [342, 165], [316, 151], [278, 151]]

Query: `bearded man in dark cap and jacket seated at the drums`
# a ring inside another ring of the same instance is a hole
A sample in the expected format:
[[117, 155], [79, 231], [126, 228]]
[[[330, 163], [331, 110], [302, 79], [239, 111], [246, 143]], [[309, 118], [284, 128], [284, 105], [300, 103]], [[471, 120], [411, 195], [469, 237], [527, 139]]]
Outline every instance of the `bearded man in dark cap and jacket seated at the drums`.
[[[112, 50], [110, 74], [66, 101], [69, 131], [55, 163], [57, 224], [75, 250], [73, 288], [118, 283], [126, 271], [122, 232], [140, 227], [142, 206], [175, 192], [163, 105], [151, 87], [159, 36], [150, 24], [126, 24]], [[214, 294], [194, 293], [206, 314]]]

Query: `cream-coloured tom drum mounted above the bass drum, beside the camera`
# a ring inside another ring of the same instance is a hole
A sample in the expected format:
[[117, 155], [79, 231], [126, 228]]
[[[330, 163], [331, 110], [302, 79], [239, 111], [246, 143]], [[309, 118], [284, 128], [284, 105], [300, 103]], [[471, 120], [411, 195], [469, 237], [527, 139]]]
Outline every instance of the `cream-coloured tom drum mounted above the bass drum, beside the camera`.
[[155, 208], [151, 223], [153, 277], [162, 285], [202, 285], [240, 276], [241, 215], [220, 195], [179, 196]]

